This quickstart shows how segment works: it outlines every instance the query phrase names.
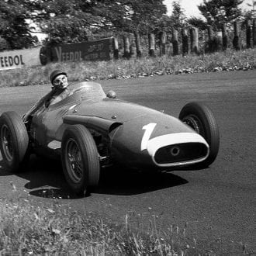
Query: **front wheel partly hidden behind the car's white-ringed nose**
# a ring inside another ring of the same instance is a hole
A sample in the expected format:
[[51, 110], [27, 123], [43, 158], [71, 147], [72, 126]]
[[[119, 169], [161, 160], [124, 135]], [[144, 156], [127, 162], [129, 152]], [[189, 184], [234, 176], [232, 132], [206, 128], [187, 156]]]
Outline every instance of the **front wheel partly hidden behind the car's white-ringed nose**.
[[208, 167], [215, 161], [220, 147], [220, 133], [213, 112], [202, 103], [190, 102], [182, 108], [178, 118], [209, 144], [209, 156], [201, 163], [202, 167]]

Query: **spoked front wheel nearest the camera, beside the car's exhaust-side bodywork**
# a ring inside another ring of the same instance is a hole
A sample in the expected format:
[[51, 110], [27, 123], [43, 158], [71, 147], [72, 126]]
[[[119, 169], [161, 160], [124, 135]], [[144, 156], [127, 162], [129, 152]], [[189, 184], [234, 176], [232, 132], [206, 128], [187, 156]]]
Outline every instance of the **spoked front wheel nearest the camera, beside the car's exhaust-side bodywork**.
[[92, 134], [82, 125], [68, 126], [61, 143], [61, 161], [68, 185], [77, 195], [99, 184], [99, 154]]

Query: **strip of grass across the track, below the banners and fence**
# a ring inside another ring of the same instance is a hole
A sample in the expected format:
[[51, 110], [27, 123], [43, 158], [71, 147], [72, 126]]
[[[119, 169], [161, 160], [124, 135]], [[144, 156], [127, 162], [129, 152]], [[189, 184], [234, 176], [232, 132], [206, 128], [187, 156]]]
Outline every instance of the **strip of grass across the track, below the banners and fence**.
[[255, 53], [256, 49], [227, 50], [200, 56], [164, 56], [119, 61], [53, 63], [47, 66], [0, 71], [0, 87], [47, 84], [51, 71], [57, 68], [64, 68], [70, 81], [137, 78], [150, 75], [211, 71], [247, 71], [256, 67]]

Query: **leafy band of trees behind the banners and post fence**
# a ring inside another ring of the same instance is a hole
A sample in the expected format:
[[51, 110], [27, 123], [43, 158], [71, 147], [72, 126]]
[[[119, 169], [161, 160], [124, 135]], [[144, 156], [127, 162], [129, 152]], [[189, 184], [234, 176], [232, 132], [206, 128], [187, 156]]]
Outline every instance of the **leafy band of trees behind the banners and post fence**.
[[[204, 0], [199, 10], [205, 19], [188, 19], [177, 1], [171, 16], [163, 0], [2, 0], [0, 4], [0, 50], [34, 47], [40, 44], [32, 36], [33, 22], [48, 35], [43, 45], [77, 43], [107, 36], [172, 33], [182, 27], [213, 26], [216, 33], [223, 22], [232, 31], [232, 22], [246, 22], [251, 12], [242, 12], [243, 0]], [[171, 42], [171, 36], [168, 37]]]

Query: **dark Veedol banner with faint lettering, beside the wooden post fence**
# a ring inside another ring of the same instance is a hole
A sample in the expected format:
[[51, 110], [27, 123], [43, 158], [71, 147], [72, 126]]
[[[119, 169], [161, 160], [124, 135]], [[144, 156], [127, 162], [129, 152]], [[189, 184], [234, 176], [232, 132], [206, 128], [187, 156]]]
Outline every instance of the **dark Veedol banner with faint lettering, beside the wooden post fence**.
[[109, 61], [112, 38], [83, 43], [64, 44], [58, 47], [43, 47], [41, 64], [50, 61]]

